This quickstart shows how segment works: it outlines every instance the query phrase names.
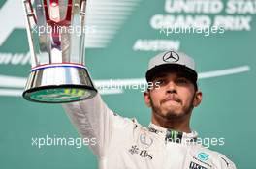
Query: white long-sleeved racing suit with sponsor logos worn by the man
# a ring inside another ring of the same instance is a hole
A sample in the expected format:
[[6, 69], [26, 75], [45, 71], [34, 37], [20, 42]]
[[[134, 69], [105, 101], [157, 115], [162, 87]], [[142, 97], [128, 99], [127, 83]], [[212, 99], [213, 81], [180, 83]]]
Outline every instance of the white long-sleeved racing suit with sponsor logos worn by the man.
[[177, 132], [118, 116], [100, 95], [63, 104], [83, 138], [90, 145], [100, 169], [236, 169], [225, 155], [196, 143], [197, 133]]

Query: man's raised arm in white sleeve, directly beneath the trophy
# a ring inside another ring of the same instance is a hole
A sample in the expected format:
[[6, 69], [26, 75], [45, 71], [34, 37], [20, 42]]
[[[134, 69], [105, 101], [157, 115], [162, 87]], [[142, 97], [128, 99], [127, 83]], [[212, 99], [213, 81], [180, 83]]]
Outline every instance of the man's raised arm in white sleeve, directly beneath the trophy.
[[95, 155], [104, 155], [112, 136], [113, 112], [101, 96], [93, 99], [62, 104], [73, 125], [83, 138], [95, 139], [95, 145], [89, 145]]

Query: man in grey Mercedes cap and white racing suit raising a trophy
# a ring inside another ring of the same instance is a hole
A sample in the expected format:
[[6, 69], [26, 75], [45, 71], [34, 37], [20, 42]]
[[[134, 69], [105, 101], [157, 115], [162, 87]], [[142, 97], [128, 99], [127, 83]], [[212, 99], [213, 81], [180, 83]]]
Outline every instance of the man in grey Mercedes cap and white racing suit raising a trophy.
[[168, 51], [149, 61], [145, 104], [152, 110], [149, 127], [113, 113], [100, 95], [64, 104], [82, 137], [95, 138], [90, 148], [100, 169], [236, 169], [225, 155], [197, 144], [189, 122], [202, 100], [194, 61]]

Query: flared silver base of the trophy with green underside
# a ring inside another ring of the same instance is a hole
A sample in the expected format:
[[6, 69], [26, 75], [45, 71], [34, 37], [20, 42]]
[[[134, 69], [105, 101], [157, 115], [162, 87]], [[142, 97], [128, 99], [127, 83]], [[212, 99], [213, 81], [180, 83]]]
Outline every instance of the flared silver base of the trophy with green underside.
[[31, 70], [23, 98], [34, 102], [65, 103], [97, 94], [88, 71], [79, 65], [49, 65]]

